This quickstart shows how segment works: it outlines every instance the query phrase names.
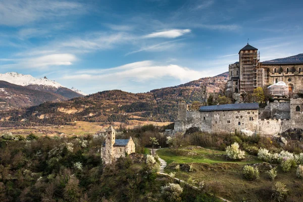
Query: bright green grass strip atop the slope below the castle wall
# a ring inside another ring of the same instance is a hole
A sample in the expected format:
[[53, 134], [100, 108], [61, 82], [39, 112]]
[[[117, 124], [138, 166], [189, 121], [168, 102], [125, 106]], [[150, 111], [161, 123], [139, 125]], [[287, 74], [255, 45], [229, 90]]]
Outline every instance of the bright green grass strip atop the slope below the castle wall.
[[171, 163], [237, 163], [237, 164], [255, 164], [261, 163], [257, 157], [246, 155], [245, 160], [242, 161], [228, 161], [224, 158], [225, 151], [198, 148], [189, 150], [186, 148], [180, 148], [181, 153], [196, 153], [194, 156], [188, 155], [178, 155], [174, 152], [173, 149], [160, 149], [157, 151], [157, 154], [160, 158], [167, 162]]

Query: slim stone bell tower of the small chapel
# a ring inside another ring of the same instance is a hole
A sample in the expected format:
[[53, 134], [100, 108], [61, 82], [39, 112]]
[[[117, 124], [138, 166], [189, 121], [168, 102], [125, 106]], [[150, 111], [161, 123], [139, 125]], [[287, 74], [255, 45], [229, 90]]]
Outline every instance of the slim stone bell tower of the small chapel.
[[113, 126], [106, 130], [106, 144], [105, 144], [105, 164], [111, 164], [114, 157], [114, 144], [116, 141], [116, 131]]

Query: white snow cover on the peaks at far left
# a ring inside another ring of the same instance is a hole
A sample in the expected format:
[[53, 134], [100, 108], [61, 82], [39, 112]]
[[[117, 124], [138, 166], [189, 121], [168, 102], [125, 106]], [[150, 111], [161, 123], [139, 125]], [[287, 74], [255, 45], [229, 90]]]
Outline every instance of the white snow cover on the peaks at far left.
[[35, 77], [27, 74], [19, 74], [17, 72], [8, 72], [5, 74], [0, 74], [0, 80], [7, 81], [16, 85], [28, 86], [28, 85], [44, 85], [44, 86], [53, 86], [56, 88], [64, 87], [56, 81], [52, 81], [44, 78], [36, 79]]

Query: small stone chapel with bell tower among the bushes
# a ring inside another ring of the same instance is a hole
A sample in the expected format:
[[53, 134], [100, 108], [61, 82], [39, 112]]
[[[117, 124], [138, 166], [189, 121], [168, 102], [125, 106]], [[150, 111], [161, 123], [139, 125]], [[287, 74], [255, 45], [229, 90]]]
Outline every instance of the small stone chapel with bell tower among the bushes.
[[104, 164], [111, 164], [120, 157], [135, 152], [135, 143], [132, 138], [116, 139], [116, 131], [110, 126], [106, 130], [106, 139], [102, 144], [101, 157]]

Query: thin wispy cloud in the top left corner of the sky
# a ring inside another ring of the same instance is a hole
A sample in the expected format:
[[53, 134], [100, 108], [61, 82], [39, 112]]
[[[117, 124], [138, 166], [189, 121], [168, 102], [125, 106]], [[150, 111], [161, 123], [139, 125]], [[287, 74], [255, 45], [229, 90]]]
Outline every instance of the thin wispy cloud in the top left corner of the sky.
[[77, 2], [3, 0], [0, 2], [0, 25], [20, 26], [41, 19], [79, 14], [85, 10], [85, 6]]

